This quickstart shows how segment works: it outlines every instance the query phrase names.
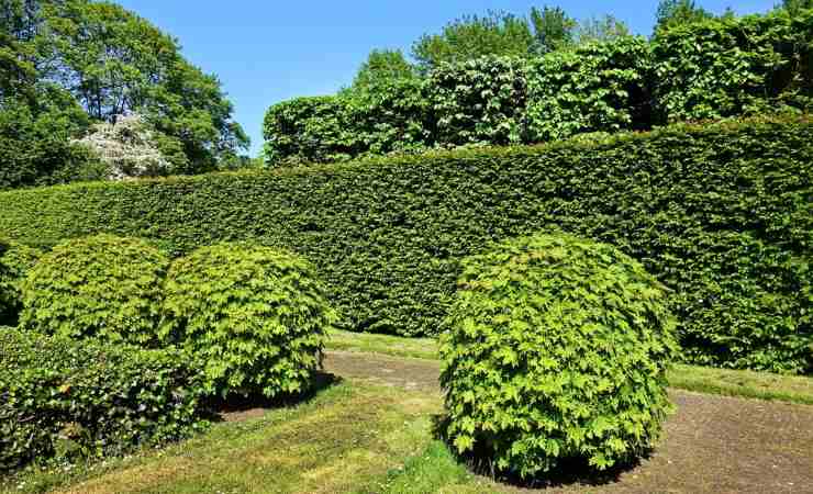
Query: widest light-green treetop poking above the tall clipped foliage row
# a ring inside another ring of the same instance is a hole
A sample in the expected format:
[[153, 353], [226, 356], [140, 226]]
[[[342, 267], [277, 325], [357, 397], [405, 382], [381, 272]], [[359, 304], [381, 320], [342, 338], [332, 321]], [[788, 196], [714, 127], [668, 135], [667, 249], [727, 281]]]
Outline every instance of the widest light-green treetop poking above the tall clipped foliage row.
[[465, 61], [486, 55], [527, 56], [534, 35], [524, 18], [489, 11], [486, 16], [465, 15], [444, 26], [441, 34], [424, 34], [412, 46], [422, 70], [443, 63]]

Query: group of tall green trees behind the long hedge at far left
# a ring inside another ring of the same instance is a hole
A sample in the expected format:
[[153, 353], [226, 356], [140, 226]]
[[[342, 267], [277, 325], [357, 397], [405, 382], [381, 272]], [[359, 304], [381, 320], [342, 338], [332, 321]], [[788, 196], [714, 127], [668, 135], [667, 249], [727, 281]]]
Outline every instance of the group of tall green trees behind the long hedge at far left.
[[[241, 166], [248, 138], [232, 111], [177, 40], [114, 3], [0, 2], [0, 189], [122, 175], [80, 142], [96, 132], [147, 160], [136, 176]], [[133, 114], [135, 136], [132, 120], [104, 127]]]

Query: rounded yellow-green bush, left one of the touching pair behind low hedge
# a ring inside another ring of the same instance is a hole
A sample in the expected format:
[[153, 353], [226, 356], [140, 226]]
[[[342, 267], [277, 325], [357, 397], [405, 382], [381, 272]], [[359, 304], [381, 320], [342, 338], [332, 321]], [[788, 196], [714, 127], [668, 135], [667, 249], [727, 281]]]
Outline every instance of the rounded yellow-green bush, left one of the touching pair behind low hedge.
[[154, 346], [168, 265], [164, 254], [136, 238], [65, 242], [23, 282], [20, 325], [46, 335]]

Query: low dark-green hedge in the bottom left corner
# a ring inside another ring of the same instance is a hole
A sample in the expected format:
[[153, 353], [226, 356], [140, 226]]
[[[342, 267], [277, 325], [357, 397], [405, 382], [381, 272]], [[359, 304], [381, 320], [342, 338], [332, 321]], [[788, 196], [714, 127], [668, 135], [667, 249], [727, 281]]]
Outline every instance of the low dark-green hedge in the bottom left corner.
[[189, 356], [0, 328], [0, 471], [107, 458], [205, 426]]

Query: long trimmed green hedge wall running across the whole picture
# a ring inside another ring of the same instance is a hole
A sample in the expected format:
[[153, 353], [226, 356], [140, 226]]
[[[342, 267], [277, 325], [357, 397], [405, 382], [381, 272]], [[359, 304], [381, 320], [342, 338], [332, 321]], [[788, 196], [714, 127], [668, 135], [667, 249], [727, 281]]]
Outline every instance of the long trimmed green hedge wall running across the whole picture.
[[813, 121], [646, 134], [272, 172], [0, 194], [0, 236], [108, 232], [178, 255], [254, 239], [304, 255], [343, 325], [431, 335], [459, 259], [561, 229], [609, 243], [669, 287], [688, 360], [813, 369]]

